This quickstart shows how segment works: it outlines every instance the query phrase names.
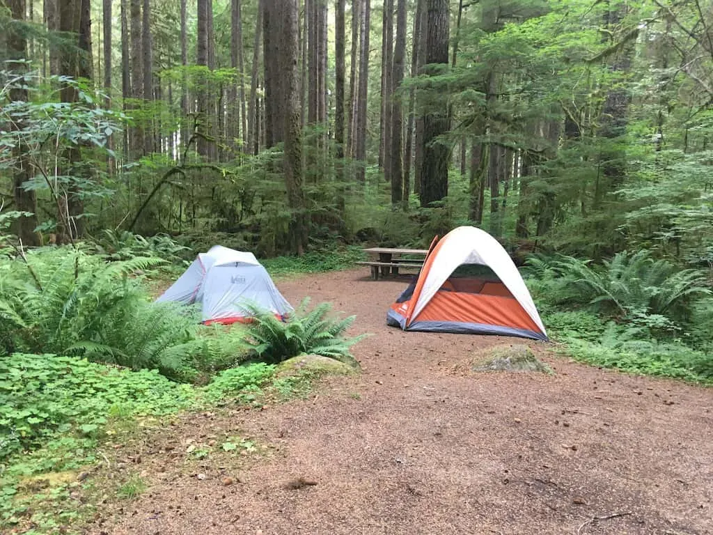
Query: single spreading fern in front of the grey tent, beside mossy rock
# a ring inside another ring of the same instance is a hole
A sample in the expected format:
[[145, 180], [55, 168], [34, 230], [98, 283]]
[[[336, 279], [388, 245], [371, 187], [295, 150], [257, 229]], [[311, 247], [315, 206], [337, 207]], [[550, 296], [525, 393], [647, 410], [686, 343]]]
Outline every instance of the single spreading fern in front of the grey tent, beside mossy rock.
[[343, 320], [329, 318], [332, 305], [320, 303], [307, 312], [309, 297], [298, 309], [281, 321], [271, 312], [250, 307], [255, 320], [247, 329], [247, 347], [257, 357], [270, 364], [282, 362], [297, 355], [322, 355], [358, 367], [349, 354], [349, 348], [364, 335], [345, 337], [356, 316]]

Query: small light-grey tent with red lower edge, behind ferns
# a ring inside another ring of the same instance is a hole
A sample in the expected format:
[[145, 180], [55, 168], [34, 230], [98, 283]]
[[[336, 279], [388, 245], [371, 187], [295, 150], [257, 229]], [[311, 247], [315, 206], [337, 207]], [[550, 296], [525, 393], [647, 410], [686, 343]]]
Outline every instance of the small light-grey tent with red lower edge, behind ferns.
[[156, 302], [200, 303], [206, 325], [248, 321], [252, 312], [243, 306], [247, 304], [278, 317], [293, 310], [255, 255], [222, 245], [200, 253]]

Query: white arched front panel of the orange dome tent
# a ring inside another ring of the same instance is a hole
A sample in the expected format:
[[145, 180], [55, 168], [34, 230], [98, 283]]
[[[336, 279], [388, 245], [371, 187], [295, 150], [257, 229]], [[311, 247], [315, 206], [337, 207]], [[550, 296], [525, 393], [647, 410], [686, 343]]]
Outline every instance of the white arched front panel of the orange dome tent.
[[479, 264], [490, 267], [500, 277], [533, 322], [540, 327], [544, 335], [547, 334], [523, 277], [498, 240], [479, 228], [458, 227], [446, 234], [438, 245], [437, 250], [432, 253], [436, 257], [426, 276], [419, 300], [414, 306], [411, 322], [416, 320], [431, 297], [436, 295], [443, 282], [448, 280], [458, 266]]

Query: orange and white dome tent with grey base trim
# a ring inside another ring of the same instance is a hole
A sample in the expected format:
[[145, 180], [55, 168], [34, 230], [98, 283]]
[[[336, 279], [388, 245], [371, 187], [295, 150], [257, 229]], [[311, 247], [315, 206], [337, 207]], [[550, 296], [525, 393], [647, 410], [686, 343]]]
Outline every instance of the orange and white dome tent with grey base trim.
[[548, 340], [510, 255], [475, 227], [434, 239], [419, 277], [391, 305], [386, 322], [406, 331]]

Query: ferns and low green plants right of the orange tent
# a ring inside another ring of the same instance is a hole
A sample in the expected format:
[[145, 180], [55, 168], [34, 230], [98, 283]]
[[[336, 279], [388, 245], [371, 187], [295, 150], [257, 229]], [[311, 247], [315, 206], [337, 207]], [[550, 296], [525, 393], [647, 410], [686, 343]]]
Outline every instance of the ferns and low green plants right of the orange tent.
[[550, 335], [591, 365], [713, 383], [710, 273], [642, 250], [600, 265], [531, 257], [530, 292]]

